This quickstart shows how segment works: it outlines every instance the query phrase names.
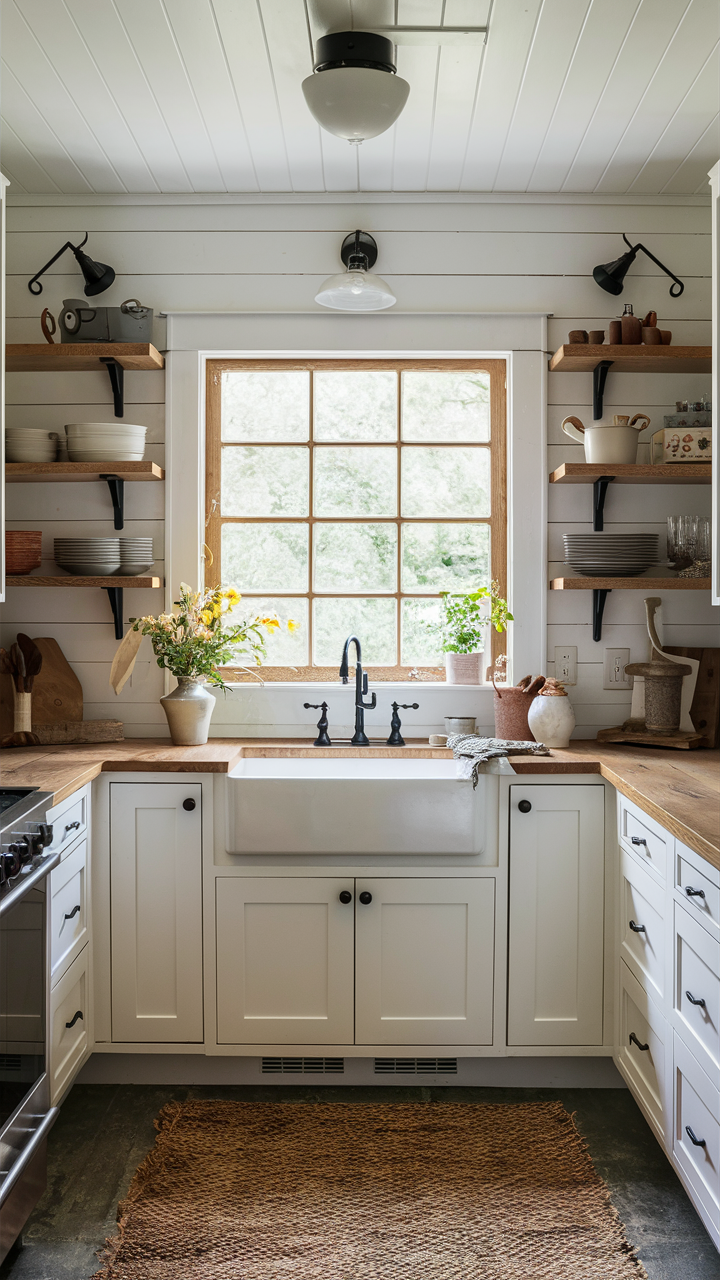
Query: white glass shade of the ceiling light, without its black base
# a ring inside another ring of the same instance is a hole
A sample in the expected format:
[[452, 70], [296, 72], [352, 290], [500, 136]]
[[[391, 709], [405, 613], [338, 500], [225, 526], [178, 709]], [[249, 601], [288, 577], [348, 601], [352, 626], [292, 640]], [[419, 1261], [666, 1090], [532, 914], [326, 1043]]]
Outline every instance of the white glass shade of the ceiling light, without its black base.
[[348, 142], [363, 142], [395, 124], [410, 84], [370, 67], [336, 67], [304, 79], [302, 92], [323, 129]]

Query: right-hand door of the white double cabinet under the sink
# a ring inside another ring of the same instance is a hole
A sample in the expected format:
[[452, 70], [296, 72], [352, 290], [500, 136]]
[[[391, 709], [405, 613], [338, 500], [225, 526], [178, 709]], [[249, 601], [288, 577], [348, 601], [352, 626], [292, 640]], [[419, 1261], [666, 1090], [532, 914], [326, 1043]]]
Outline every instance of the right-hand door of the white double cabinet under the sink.
[[495, 881], [359, 879], [357, 1044], [492, 1044]]

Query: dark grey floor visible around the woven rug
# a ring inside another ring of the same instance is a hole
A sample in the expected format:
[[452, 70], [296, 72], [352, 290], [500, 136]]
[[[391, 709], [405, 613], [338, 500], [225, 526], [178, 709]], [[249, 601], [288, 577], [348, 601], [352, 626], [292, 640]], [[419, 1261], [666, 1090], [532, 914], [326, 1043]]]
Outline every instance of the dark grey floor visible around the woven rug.
[[[183, 1098], [283, 1102], [548, 1102], [585, 1138], [651, 1280], [720, 1280], [720, 1256], [626, 1089], [176, 1087], [76, 1084], [49, 1143], [47, 1192], [0, 1280], [88, 1280], [118, 1199], [155, 1140], [160, 1107]], [[181, 1277], [178, 1277], [181, 1280]]]

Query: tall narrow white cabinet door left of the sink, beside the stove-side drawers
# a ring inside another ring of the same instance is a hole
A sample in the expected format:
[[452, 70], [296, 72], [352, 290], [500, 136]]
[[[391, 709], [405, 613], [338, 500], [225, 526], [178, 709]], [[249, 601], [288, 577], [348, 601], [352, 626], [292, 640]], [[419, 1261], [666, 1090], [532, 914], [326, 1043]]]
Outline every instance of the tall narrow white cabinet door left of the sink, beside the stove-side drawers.
[[110, 783], [113, 1041], [202, 1041], [202, 787]]

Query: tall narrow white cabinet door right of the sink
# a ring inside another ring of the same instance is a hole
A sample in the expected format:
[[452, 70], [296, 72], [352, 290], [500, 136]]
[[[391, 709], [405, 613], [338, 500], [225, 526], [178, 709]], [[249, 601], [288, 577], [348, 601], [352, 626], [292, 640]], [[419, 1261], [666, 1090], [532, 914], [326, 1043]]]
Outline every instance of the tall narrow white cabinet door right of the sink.
[[509, 1044], [602, 1044], [605, 788], [510, 788]]

